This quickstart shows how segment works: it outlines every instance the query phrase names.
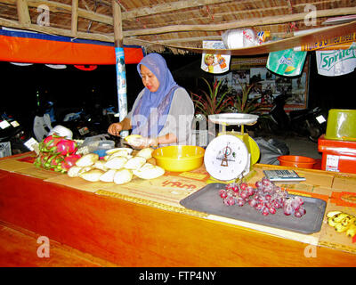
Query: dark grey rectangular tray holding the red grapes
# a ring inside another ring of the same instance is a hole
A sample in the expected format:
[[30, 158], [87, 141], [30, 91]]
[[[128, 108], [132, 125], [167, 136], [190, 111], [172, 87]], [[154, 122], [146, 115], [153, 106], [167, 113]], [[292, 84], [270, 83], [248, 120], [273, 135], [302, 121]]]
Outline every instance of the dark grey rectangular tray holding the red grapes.
[[[206, 214], [224, 216], [240, 221], [254, 224], [263, 224], [287, 231], [311, 234], [320, 232], [321, 224], [325, 214], [326, 201], [322, 199], [301, 196], [306, 210], [302, 217], [293, 215], [286, 216], [283, 209], [277, 209], [276, 214], [263, 216], [261, 212], [255, 210], [246, 203], [243, 207], [238, 205], [226, 206], [219, 195], [219, 190], [225, 188], [224, 183], [207, 184], [202, 189], [194, 192], [190, 196], [180, 201], [185, 208], [204, 212]], [[288, 194], [288, 197], [295, 195]]]

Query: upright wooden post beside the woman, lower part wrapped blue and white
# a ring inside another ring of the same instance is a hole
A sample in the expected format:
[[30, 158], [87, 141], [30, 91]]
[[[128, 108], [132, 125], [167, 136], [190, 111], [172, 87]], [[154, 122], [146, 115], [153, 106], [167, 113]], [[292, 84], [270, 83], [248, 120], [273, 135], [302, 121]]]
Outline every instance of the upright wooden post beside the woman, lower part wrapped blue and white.
[[[114, 20], [114, 45], [117, 68], [117, 103], [119, 120], [121, 122], [127, 115], [127, 94], [121, 8], [117, 3], [117, 0], [112, 0], [112, 13], [112, 18]], [[125, 137], [128, 135], [128, 131], [123, 131], [120, 135]]]

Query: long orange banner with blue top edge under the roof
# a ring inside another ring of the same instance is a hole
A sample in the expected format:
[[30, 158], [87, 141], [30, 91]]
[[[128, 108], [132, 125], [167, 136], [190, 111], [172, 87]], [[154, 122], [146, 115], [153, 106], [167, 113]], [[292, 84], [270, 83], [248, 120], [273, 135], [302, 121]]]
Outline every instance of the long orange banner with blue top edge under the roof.
[[[124, 45], [125, 64], [139, 63], [143, 50]], [[113, 43], [0, 29], [0, 61], [52, 64], [115, 64]]]

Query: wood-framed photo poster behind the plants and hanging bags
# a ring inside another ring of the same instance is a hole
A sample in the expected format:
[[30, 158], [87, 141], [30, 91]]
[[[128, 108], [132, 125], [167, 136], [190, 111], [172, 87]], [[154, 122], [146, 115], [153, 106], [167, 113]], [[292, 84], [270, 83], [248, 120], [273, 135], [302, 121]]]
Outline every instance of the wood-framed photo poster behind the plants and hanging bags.
[[271, 109], [274, 99], [287, 93], [285, 110], [300, 110], [307, 107], [309, 58], [305, 60], [303, 72], [298, 77], [282, 77], [266, 68], [267, 57], [231, 58], [231, 72], [219, 76], [227, 79], [227, 85], [237, 93], [241, 92], [242, 84], [253, 84], [249, 99], [261, 97], [259, 103], [265, 112]]

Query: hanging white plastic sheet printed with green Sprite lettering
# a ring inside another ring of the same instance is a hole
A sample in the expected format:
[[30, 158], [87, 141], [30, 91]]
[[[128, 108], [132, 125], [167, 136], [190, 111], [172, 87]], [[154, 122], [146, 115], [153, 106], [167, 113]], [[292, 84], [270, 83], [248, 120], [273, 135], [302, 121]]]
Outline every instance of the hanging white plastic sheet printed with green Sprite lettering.
[[337, 77], [351, 73], [356, 68], [356, 44], [347, 50], [316, 51], [318, 73], [327, 77]]

